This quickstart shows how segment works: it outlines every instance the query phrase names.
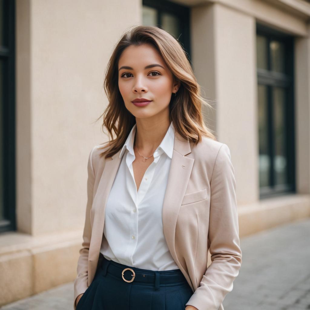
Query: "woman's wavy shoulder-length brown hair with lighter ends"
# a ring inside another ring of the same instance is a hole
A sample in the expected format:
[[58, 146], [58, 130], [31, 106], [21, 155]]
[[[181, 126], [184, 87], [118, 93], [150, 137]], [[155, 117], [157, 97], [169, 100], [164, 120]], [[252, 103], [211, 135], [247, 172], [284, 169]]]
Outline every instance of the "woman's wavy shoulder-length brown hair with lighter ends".
[[[97, 121], [103, 116], [102, 129], [104, 131], [105, 127], [108, 130], [109, 141], [100, 148], [105, 148], [100, 157], [105, 155], [107, 158], [117, 153], [135, 125], [135, 116], [126, 109], [118, 88], [118, 61], [126, 47], [144, 43], [151, 44], [160, 53], [172, 72], [174, 81], [180, 81], [177, 95], [171, 94], [169, 104], [170, 122], [173, 123], [175, 131], [194, 144], [201, 141], [201, 136], [216, 139], [213, 131], [205, 126], [201, 112], [201, 104], [212, 107], [202, 98], [200, 86], [178, 40], [158, 27], [139, 25], [123, 34], [108, 61], [104, 91], [109, 103]], [[113, 131], [116, 134], [115, 139]]]

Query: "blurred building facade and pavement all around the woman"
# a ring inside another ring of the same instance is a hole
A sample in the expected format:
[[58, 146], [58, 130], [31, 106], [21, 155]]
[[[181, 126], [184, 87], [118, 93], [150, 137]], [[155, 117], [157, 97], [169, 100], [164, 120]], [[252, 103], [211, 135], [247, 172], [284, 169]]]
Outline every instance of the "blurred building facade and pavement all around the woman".
[[104, 72], [144, 24], [182, 44], [231, 151], [243, 263], [225, 310], [309, 309], [309, 18], [306, 0], [0, 0], [0, 306], [73, 308]]

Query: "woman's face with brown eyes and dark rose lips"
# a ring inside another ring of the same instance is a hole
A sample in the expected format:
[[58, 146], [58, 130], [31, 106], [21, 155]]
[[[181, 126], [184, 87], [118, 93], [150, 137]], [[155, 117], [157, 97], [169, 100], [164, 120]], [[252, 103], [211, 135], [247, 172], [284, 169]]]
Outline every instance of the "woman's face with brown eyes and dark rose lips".
[[[118, 87], [126, 108], [137, 118], [169, 116], [172, 93], [179, 89], [162, 56], [150, 44], [126, 47], [118, 62]], [[136, 103], [135, 99], [151, 100]]]

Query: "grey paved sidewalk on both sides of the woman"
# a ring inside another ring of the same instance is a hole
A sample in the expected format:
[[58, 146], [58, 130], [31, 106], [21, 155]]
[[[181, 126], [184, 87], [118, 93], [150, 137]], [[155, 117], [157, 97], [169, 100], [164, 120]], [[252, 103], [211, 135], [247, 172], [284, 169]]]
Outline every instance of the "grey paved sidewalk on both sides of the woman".
[[[242, 265], [225, 310], [310, 309], [310, 219], [241, 239]], [[73, 310], [73, 282], [1, 310]], [[161, 309], [158, 309], [161, 310]]]

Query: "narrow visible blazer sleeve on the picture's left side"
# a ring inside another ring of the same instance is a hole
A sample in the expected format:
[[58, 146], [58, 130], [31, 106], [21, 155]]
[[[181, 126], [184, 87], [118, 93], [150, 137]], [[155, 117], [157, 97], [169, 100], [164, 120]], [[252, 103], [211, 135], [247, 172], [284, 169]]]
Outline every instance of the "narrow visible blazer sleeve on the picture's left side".
[[78, 267], [77, 267], [77, 277], [74, 281], [74, 310], [76, 310], [76, 298], [78, 295], [83, 294], [88, 288], [88, 252], [89, 245], [91, 242], [91, 221], [90, 221], [90, 212], [93, 202], [93, 189], [95, 182], [95, 173], [93, 170], [91, 156], [95, 148], [91, 150], [91, 153], [88, 157], [87, 164], [87, 203], [86, 203], [86, 215], [85, 215], [85, 224], [83, 231], [83, 242], [82, 248], [79, 250], [80, 256], [78, 258]]

